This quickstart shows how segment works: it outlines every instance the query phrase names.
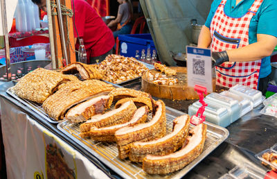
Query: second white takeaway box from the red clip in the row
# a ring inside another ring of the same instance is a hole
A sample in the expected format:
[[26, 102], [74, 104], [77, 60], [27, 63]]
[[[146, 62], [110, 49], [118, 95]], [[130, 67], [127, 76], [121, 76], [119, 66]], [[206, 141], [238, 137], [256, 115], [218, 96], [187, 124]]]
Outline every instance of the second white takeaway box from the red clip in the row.
[[231, 113], [231, 123], [240, 118], [240, 105], [238, 100], [231, 99], [228, 96], [224, 96], [222, 94], [211, 93], [206, 96], [205, 102], [227, 108], [229, 113]]

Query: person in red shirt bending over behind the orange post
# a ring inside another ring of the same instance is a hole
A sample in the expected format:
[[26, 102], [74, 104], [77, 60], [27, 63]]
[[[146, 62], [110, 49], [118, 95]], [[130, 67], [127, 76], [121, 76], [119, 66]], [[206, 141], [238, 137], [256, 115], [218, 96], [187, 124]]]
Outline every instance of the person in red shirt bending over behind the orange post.
[[[32, 0], [39, 8], [46, 11], [46, 0]], [[74, 4], [73, 4], [74, 2]], [[107, 27], [102, 18], [97, 14], [87, 1], [74, 0], [71, 1], [72, 8], [75, 12], [74, 37], [76, 49], [79, 49], [77, 37], [84, 40], [84, 47], [87, 51], [87, 62], [90, 64], [96, 63], [96, 60], [101, 62], [106, 56], [112, 53], [115, 44], [114, 35]]]

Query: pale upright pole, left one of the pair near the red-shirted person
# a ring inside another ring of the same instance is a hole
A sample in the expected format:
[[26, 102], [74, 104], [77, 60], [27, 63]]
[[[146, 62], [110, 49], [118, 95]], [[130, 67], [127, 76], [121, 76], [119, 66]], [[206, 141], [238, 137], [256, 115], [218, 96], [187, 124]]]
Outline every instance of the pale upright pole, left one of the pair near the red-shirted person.
[[47, 17], [48, 17], [48, 26], [49, 26], [49, 42], [50, 42], [50, 51], [51, 51], [51, 60], [52, 68], [56, 69], [56, 60], [55, 60], [55, 42], [54, 42], [54, 33], [53, 33], [53, 22], [52, 22], [52, 12], [51, 12], [51, 3], [46, 1], [47, 8]]

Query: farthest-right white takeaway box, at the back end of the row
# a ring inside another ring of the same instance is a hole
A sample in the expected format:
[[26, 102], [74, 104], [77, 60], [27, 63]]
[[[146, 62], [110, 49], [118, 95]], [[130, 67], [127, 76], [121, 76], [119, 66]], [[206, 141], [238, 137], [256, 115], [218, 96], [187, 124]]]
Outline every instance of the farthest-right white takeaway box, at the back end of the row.
[[235, 85], [231, 87], [229, 91], [249, 99], [253, 103], [253, 108], [260, 105], [260, 103], [265, 100], [265, 96], [262, 96], [262, 92], [244, 85]]

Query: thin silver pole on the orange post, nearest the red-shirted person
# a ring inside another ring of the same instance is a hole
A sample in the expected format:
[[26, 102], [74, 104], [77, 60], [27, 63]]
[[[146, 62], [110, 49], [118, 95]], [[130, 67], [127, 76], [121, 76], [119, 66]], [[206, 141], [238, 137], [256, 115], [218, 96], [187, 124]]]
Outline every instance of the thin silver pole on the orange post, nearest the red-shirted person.
[[56, 2], [57, 2], [57, 17], [59, 19], [60, 32], [62, 37], [62, 50], [64, 51], [64, 58], [66, 60], [66, 65], [69, 65], [70, 60], [67, 57], [66, 42], [64, 37], [64, 24], [62, 23], [62, 8], [61, 8], [60, 0], [57, 0]]

